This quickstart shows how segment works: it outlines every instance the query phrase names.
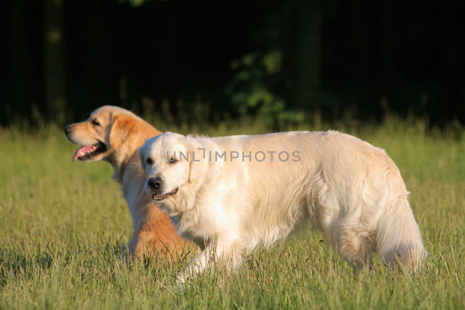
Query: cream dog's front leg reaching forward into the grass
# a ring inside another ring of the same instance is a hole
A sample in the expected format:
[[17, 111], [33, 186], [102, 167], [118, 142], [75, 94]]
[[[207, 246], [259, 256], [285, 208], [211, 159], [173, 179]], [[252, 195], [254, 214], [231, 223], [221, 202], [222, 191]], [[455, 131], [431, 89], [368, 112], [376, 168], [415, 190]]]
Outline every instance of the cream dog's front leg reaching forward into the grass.
[[[228, 261], [233, 259], [233, 264], [227, 264], [228, 269], [240, 261], [238, 254], [240, 254], [240, 248], [238, 247], [237, 241], [229, 241], [230, 238], [218, 238], [216, 244], [208, 244], [206, 248], [200, 252], [199, 255], [193, 258], [187, 264], [186, 268], [179, 272], [176, 277], [179, 288], [185, 288], [186, 282], [189, 278], [195, 277], [196, 275], [202, 274], [206, 267], [218, 261]], [[226, 242], [225, 242], [226, 241]], [[228, 242], [229, 241], [229, 242]]]

